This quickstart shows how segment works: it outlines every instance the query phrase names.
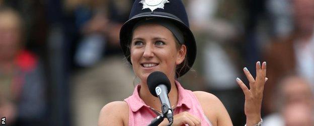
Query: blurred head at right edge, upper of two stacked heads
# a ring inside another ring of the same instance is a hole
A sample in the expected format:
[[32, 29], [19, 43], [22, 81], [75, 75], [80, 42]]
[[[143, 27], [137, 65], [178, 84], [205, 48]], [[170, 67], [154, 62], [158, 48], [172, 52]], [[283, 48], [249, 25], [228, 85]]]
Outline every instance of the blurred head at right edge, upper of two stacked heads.
[[298, 77], [291, 77], [283, 82], [282, 94], [284, 104], [304, 103], [314, 105], [313, 94], [309, 84]]

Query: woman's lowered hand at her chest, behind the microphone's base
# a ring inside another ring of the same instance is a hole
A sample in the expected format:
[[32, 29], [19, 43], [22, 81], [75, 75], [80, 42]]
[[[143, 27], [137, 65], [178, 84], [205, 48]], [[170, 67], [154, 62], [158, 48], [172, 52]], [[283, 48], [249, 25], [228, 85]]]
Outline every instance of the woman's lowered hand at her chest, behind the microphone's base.
[[[168, 120], [167, 118], [164, 119], [164, 121], [159, 124], [159, 125], [167, 125], [168, 124]], [[201, 119], [199, 119], [198, 117], [190, 114], [189, 112], [181, 112], [179, 114], [176, 114], [174, 116], [174, 122], [172, 123], [172, 125], [176, 125], [176, 126], [181, 126], [181, 125], [202, 125], [201, 124]]]

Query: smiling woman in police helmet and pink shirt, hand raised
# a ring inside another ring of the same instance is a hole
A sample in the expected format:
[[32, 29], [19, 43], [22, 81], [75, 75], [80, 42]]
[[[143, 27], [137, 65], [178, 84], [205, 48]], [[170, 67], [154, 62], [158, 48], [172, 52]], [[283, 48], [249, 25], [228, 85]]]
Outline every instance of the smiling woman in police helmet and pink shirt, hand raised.
[[[181, 1], [135, 1], [130, 19], [121, 28], [120, 45], [140, 84], [129, 98], [105, 105], [100, 112], [99, 125], [147, 125], [158, 116], [161, 103], [150, 94], [146, 84], [148, 75], [154, 71], [165, 73], [171, 82], [168, 95], [174, 110], [172, 125], [232, 125], [217, 97], [185, 90], [176, 81], [190, 70], [196, 57], [194, 36]], [[250, 90], [237, 78], [246, 97], [247, 125], [261, 123], [266, 62], [262, 65], [257, 62], [256, 68], [256, 80], [244, 69]], [[168, 120], [164, 119], [160, 125], [167, 124]]]

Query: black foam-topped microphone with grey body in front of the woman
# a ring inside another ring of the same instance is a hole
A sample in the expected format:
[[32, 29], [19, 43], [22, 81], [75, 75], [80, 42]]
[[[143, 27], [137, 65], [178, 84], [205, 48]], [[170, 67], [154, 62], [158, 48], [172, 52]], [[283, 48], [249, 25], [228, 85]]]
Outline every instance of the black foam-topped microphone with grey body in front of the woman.
[[171, 90], [168, 77], [162, 72], [155, 71], [147, 77], [147, 85], [149, 92], [153, 96], [159, 97], [162, 103], [162, 116], [166, 116], [169, 121], [168, 125], [171, 125], [173, 123], [173, 110], [168, 97]]

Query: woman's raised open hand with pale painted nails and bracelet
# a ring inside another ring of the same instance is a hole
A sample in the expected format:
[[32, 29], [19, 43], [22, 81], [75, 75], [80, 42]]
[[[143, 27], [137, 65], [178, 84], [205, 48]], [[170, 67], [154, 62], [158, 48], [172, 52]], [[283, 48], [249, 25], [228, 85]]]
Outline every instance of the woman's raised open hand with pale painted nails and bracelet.
[[261, 62], [256, 62], [256, 78], [254, 79], [247, 68], [244, 68], [244, 73], [250, 82], [250, 89], [237, 78], [237, 83], [245, 94], [244, 110], [247, 116], [247, 125], [255, 125], [261, 120], [261, 105], [263, 99], [264, 85], [266, 78], [266, 62], [262, 66]]

